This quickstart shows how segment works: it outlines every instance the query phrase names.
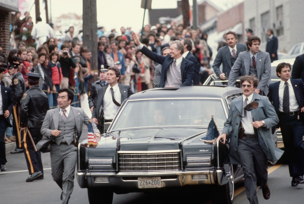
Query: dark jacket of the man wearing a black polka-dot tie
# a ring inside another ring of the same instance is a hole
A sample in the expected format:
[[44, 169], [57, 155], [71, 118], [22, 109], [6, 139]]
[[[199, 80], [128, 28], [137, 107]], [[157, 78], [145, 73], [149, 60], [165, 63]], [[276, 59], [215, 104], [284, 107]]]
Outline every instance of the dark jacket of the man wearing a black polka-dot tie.
[[[293, 91], [295, 92], [295, 98], [298, 102], [299, 108], [304, 107], [304, 83], [302, 79], [290, 79]], [[279, 85], [281, 81], [271, 83], [269, 85], [268, 98], [272, 103], [273, 107], [275, 107], [275, 112], [279, 115]], [[304, 113], [302, 113], [304, 115]], [[280, 124], [280, 123], [279, 123]], [[277, 127], [279, 127], [279, 124]], [[275, 127], [275, 128], [277, 128]], [[274, 133], [275, 128], [272, 128], [272, 132]]]

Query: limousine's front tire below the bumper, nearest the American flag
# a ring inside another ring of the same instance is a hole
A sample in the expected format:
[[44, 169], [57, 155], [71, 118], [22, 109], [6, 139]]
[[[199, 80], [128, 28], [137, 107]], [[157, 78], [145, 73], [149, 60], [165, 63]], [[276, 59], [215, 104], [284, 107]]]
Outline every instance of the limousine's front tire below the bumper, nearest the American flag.
[[90, 204], [112, 204], [113, 191], [106, 188], [88, 188]]

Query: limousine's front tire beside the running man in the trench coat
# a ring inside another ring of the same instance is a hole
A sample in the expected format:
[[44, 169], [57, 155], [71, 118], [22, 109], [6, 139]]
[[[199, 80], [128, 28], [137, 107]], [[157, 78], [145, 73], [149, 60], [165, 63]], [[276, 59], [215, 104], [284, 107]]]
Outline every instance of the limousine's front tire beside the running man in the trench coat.
[[232, 204], [234, 197], [234, 175], [232, 164], [229, 166], [230, 178], [226, 185], [215, 186], [212, 190], [212, 204]]

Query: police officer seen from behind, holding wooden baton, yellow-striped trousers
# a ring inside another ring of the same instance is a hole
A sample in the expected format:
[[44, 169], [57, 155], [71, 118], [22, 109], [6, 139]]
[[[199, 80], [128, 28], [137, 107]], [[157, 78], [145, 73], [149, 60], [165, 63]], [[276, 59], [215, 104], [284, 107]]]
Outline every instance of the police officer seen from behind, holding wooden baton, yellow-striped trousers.
[[47, 95], [43, 93], [39, 86], [41, 74], [27, 73], [26, 75], [29, 77], [29, 90], [23, 94], [21, 99], [20, 127], [22, 130], [22, 147], [27, 168], [31, 175], [26, 179], [26, 182], [31, 182], [36, 179], [43, 179], [43, 167], [41, 153], [40, 151], [35, 151], [30, 135], [35, 145], [42, 140], [40, 129], [50, 108]]

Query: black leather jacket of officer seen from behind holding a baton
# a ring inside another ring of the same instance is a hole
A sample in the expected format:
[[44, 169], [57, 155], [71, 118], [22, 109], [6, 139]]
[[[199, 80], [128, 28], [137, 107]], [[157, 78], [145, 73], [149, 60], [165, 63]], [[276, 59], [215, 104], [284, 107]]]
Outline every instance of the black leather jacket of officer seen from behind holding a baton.
[[47, 95], [39, 85], [27, 90], [22, 97], [20, 105], [20, 127], [40, 128], [47, 111], [50, 110]]

